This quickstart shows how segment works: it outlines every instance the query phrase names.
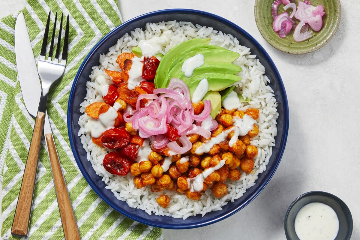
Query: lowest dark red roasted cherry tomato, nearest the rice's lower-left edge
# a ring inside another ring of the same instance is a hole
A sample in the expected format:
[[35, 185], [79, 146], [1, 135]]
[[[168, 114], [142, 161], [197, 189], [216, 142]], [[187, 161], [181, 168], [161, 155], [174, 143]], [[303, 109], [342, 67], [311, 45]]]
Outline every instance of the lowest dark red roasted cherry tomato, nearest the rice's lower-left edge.
[[103, 166], [111, 174], [126, 176], [130, 172], [131, 161], [122, 153], [113, 151], [105, 155]]

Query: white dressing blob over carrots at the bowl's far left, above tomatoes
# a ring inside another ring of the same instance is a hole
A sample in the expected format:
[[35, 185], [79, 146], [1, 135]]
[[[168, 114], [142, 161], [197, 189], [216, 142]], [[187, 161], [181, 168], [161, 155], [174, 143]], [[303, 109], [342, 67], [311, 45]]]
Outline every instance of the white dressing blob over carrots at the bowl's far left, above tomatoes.
[[116, 118], [116, 109], [110, 107], [105, 113], [99, 114], [99, 119], [89, 119], [85, 124], [85, 131], [90, 132], [92, 137], [98, 138], [103, 132], [114, 127]]

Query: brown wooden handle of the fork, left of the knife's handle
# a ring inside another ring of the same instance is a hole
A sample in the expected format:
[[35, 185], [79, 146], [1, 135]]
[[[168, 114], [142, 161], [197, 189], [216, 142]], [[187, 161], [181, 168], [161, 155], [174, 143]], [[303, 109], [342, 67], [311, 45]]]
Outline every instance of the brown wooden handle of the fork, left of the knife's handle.
[[39, 159], [44, 119], [45, 113], [38, 112], [36, 116], [34, 131], [32, 133], [29, 154], [26, 160], [18, 203], [15, 210], [13, 226], [11, 229], [11, 234], [14, 236], [24, 237], [27, 235], [27, 232], [29, 230], [31, 204], [34, 194], [35, 177], [37, 171], [37, 159]]

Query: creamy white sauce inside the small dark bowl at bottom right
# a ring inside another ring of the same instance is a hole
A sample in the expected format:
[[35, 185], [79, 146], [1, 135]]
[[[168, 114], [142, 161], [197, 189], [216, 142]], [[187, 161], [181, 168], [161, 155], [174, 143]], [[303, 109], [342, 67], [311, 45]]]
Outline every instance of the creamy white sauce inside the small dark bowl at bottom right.
[[294, 227], [300, 240], [334, 240], [339, 231], [339, 219], [328, 205], [309, 203], [297, 213]]

